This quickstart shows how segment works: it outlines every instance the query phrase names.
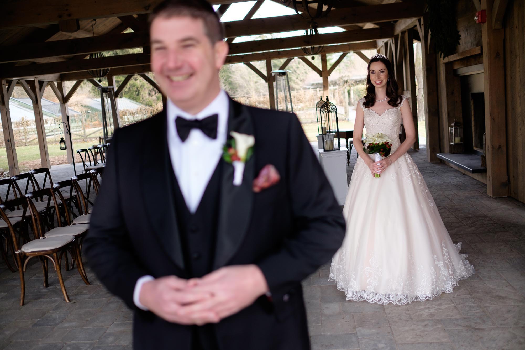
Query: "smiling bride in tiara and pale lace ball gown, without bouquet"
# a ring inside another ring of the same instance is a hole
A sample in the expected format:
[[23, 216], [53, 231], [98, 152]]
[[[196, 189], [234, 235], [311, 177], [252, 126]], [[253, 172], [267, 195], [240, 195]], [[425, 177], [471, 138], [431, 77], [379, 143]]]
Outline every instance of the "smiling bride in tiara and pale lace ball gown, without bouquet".
[[[458, 280], [474, 274], [459, 254], [432, 195], [406, 153], [415, 140], [407, 97], [398, 95], [392, 65], [383, 55], [368, 64], [366, 96], [359, 100], [354, 135], [382, 132], [390, 156], [374, 162], [362, 147], [346, 195], [346, 236], [335, 253], [330, 280], [346, 300], [406, 304], [451, 293]], [[406, 140], [400, 143], [401, 121]], [[375, 178], [374, 173], [381, 174]]]

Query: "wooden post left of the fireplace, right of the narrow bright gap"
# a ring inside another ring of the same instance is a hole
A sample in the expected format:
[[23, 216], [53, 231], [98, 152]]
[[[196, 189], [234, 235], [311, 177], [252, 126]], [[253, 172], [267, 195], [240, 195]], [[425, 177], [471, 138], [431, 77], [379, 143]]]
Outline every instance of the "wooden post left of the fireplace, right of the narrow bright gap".
[[[429, 30], [424, 19], [421, 20], [421, 54], [423, 65], [423, 97], [425, 100], [425, 131], [427, 139], [427, 160], [437, 163], [439, 159], [439, 106], [437, 101], [437, 55], [435, 45], [427, 45]], [[428, 48], [428, 50], [427, 50]]]

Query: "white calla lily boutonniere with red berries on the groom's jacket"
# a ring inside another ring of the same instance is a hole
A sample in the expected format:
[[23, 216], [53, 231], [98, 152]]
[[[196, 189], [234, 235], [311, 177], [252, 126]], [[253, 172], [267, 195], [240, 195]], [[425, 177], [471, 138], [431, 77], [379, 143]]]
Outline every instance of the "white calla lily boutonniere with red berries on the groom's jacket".
[[231, 131], [232, 139], [224, 145], [223, 159], [233, 166], [233, 184], [243, 183], [244, 166], [254, 154], [255, 137]]

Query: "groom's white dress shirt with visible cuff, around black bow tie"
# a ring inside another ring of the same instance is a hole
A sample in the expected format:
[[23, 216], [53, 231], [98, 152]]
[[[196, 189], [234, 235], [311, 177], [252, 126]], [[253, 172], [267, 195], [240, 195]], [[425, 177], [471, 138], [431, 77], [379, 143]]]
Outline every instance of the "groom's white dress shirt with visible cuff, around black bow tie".
[[[188, 138], [182, 142], [178, 136], [175, 118], [204, 119], [217, 114], [217, 138], [206, 136], [199, 129], [192, 129]], [[204, 191], [212, 178], [213, 172], [223, 155], [228, 128], [229, 98], [224, 90], [197, 115], [193, 116], [167, 100], [167, 146], [170, 152], [171, 164], [184, 201], [191, 213], [195, 213], [201, 202]], [[140, 290], [145, 282], [153, 280], [152, 276], [142, 276], [135, 284], [133, 302], [142, 310], [148, 310], [139, 301]]]

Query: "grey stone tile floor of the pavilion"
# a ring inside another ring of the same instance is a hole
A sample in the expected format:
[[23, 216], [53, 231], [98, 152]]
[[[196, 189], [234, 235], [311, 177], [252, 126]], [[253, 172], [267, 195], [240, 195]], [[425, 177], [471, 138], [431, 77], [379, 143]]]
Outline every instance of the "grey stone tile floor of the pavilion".
[[[384, 306], [346, 302], [328, 281], [330, 266], [323, 265], [303, 282], [312, 348], [525, 348], [525, 204], [488, 197], [484, 184], [445, 164], [427, 163], [425, 149], [411, 155], [476, 274], [432, 301]], [[349, 177], [354, 162], [355, 151]], [[131, 348], [132, 314], [125, 305], [92, 273], [90, 286], [76, 270], [64, 275], [70, 303], [53, 271], [44, 288], [40, 267], [29, 266], [20, 307], [18, 274], [0, 262], [0, 349]]]

